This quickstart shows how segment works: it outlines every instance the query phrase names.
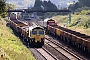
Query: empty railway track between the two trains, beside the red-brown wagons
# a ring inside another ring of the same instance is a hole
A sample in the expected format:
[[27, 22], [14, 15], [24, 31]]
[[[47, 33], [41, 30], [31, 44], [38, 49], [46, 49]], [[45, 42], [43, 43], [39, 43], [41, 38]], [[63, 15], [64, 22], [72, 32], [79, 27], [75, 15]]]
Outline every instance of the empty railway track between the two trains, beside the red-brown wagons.
[[46, 36], [45, 38], [49, 43], [47, 43], [49, 46], [51, 46], [53, 49], [58, 51], [60, 54], [65, 56], [69, 60], [87, 60], [83, 56], [80, 56], [79, 54], [75, 54], [73, 51], [65, 47], [64, 45], [57, 42], [55, 39], [53, 39], [50, 36]]

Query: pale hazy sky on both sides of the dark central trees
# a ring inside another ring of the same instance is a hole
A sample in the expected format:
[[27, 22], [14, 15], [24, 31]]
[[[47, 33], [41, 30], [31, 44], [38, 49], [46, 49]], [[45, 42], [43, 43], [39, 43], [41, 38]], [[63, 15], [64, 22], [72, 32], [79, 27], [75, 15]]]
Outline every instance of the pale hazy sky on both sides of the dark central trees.
[[[73, 1], [77, 2], [78, 0], [51, 0], [52, 3], [61, 6], [67, 6], [68, 3]], [[14, 4], [16, 8], [27, 8], [28, 6], [33, 6], [35, 0], [7, 0], [7, 2]]]

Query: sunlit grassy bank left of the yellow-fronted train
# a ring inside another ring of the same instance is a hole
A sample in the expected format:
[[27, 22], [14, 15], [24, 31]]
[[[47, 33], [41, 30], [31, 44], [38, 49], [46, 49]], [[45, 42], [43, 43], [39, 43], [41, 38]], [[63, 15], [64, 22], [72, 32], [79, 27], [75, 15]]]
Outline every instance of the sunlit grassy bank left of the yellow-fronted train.
[[0, 18], [0, 60], [35, 60], [30, 50]]

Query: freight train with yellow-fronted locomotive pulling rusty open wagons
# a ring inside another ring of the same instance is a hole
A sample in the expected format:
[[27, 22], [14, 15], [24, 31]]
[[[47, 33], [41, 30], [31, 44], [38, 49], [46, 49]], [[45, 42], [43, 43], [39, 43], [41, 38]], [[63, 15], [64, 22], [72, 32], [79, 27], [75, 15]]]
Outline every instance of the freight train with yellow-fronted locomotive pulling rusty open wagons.
[[[13, 16], [13, 18], [12, 18]], [[28, 26], [23, 22], [15, 19], [15, 15], [11, 16], [9, 20], [10, 27], [19, 33], [23, 37], [24, 41], [28, 42], [31, 46], [40, 46], [44, 45], [45, 30], [40, 26]]]

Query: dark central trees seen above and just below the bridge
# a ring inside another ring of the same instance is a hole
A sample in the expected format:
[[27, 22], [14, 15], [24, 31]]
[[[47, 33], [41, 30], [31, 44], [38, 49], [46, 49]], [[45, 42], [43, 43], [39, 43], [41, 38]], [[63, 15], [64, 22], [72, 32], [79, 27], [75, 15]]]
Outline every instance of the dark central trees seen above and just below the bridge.
[[[57, 10], [57, 7], [51, 3], [51, 1], [41, 1], [41, 0], [35, 0], [35, 4], [34, 7], [32, 8], [32, 10]], [[51, 14], [55, 14], [55, 13], [42, 13], [42, 12], [38, 12], [37, 15], [39, 16], [45, 16], [45, 15], [49, 15], [49, 17], [51, 16]]]

